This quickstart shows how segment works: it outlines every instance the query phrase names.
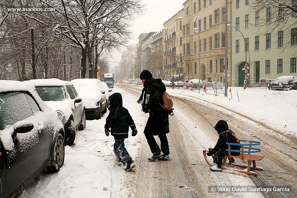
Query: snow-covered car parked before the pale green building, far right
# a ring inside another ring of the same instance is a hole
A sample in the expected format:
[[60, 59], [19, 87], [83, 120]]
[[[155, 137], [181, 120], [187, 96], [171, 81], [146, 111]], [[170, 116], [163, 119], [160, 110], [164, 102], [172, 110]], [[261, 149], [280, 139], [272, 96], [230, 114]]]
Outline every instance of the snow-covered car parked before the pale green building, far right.
[[275, 79], [270, 88], [272, 90], [291, 90], [297, 89], [297, 77], [296, 76], [280, 76]]

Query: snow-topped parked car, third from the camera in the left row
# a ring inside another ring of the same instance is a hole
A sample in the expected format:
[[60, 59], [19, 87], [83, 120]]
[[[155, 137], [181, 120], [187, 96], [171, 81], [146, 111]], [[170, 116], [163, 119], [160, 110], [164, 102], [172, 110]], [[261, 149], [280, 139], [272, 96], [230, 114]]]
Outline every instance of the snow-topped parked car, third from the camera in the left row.
[[107, 111], [106, 95], [103, 89], [100, 89], [101, 81], [96, 78], [80, 78], [71, 80], [78, 94], [83, 99], [86, 106], [86, 119], [101, 119], [103, 113]]

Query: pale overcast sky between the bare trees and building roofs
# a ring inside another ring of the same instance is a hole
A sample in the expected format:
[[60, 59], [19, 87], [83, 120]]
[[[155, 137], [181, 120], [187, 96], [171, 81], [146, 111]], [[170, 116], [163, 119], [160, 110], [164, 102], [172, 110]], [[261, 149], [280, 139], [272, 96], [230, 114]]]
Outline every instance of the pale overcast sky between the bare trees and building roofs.
[[[176, 12], [183, 8], [186, 0], [142, 0], [146, 5], [146, 10], [136, 18], [132, 31], [134, 31], [134, 40], [131, 44], [138, 42], [138, 36], [142, 33], [160, 32], [163, 29], [163, 23], [172, 17]], [[115, 51], [111, 59], [111, 67], [119, 65], [121, 61], [121, 52]]]

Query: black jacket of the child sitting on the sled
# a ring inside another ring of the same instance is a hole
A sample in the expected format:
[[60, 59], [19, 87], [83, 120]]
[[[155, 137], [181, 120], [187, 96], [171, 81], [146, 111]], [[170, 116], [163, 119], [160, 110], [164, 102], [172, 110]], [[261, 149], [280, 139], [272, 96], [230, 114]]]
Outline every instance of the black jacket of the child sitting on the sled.
[[[219, 135], [219, 139], [217, 141], [217, 144], [215, 145], [215, 147], [211, 150], [211, 153], [214, 154], [216, 153], [218, 150], [220, 149], [228, 149], [228, 143], [240, 143], [239, 139], [235, 136], [235, 134], [233, 133], [232, 135], [232, 131], [231, 129], [229, 129], [228, 131], [224, 131]], [[238, 150], [240, 149], [237, 145], [230, 145], [231, 150]], [[232, 152], [231, 152], [232, 153]], [[237, 155], [239, 153], [235, 153], [233, 152], [233, 154]]]

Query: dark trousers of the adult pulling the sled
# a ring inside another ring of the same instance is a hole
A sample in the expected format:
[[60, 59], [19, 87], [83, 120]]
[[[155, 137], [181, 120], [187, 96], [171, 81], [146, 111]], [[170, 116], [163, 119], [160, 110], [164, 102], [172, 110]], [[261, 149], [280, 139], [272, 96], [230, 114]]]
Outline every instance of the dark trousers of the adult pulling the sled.
[[[160, 148], [154, 138], [154, 136], [151, 133], [145, 133], [146, 140], [149, 144], [149, 147], [151, 149], [151, 152], [153, 154], [160, 153]], [[160, 143], [161, 143], [161, 150], [164, 153], [164, 155], [169, 154], [169, 145], [168, 145], [168, 139], [166, 134], [159, 135]]]

